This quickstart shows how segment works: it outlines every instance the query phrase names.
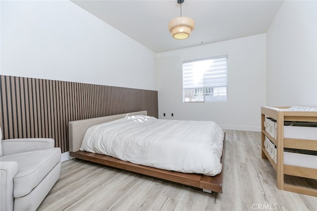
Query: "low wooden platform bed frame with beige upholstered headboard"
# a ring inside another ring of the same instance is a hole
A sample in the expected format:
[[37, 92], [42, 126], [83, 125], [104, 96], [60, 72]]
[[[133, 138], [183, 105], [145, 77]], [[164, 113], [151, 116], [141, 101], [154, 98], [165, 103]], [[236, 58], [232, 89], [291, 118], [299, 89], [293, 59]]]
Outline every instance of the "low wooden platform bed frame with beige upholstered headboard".
[[[112, 115], [112, 116], [106, 116], [106, 117], [100, 117], [100, 118], [92, 118], [92, 119], [69, 122], [68, 128], [69, 128], [70, 156], [75, 157], [77, 159], [90, 161], [90, 162], [106, 165], [109, 167], [114, 167], [117, 169], [124, 169], [124, 170], [132, 171], [135, 173], [144, 174], [147, 176], [153, 176], [159, 179], [176, 182], [183, 185], [201, 188], [203, 189], [204, 192], [208, 192], [208, 193], [211, 193], [211, 191], [222, 193], [222, 172], [215, 176], [207, 176], [207, 175], [196, 174], [196, 173], [182, 173], [182, 172], [163, 170], [163, 169], [157, 169], [153, 167], [137, 165], [137, 164], [133, 164], [127, 161], [122, 161], [110, 156], [101, 155], [97, 153], [79, 151], [85, 132], [87, 131], [89, 127], [92, 127], [94, 125], [98, 125], [101, 123], [113, 121], [116, 119], [120, 119], [126, 116], [140, 115], [140, 114], [147, 115], [147, 111], [132, 112], [132, 113], [126, 113], [126, 114], [118, 114], [118, 115]], [[222, 167], [223, 167], [223, 159], [224, 159], [223, 158], [224, 147], [225, 147], [225, 144], [223, 140], [222, 157], [220, 159]]]

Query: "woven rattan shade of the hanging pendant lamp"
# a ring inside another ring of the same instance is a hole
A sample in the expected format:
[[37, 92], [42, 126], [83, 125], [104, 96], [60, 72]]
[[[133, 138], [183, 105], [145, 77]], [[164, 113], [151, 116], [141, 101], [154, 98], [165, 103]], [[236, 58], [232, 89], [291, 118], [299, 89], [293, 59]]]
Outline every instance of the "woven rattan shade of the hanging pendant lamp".
[[194, 20], [189, 17], [177, 17], [168, 24], [169, 32], [172, 37], [178, 40], [186, 39], [194, 30]]

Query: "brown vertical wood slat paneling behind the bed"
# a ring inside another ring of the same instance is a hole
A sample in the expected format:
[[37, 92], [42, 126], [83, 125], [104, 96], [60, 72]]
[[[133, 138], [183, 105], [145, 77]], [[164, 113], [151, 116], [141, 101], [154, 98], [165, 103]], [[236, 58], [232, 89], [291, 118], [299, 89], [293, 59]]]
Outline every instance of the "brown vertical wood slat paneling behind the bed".
[[158, 92], [0, 76], [3, 139], [53, 138], [68, 151], [68, 122], [147, 110], [158, 118]]

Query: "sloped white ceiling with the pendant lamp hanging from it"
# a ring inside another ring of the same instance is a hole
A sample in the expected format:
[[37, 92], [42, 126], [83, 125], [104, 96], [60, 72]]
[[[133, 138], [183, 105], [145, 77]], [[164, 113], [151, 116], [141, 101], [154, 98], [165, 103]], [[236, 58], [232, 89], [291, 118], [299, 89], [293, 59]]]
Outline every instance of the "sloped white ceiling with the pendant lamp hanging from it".
[[265, 33], [282, 0], [185, 0], [182, 16], [194, 19], [186, 40], [168, 22], [180, 16], [177, 0], [71, 0], [125, 35], [159, 53]]

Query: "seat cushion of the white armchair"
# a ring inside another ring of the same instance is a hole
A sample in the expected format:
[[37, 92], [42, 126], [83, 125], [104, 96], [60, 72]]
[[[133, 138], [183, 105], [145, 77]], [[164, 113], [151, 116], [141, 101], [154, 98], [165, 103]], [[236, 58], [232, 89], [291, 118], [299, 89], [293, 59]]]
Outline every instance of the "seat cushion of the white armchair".
[[18, 164], [18, 173], [13, 177], [13, 197], [25, 196], [36, 187], [60, 161], [60, 148], [24, 152], [0, 157], [2, 161]]

